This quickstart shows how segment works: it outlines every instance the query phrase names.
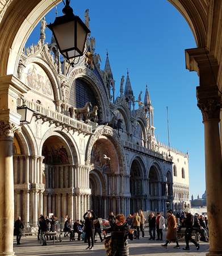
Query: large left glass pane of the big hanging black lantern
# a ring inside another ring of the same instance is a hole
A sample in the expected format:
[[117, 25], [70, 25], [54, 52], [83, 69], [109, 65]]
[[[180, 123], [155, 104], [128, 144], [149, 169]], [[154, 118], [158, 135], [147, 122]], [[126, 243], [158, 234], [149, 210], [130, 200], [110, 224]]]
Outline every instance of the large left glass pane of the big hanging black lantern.
[[75, 27], [74, 20], [59, 24], [53, 27], [54, 34], [56, 36], [58, 45], [61, 51], [65, 49], [74, 48], [75, 43]]

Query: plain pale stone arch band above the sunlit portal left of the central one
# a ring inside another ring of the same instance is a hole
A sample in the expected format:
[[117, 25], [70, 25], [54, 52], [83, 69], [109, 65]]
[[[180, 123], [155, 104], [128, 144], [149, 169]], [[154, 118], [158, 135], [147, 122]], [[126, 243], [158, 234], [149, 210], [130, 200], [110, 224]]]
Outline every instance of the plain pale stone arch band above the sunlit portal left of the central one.
[[41, 139], [39, 146], [39, 154], [41, 155], [41, 151], [43, 150], [44, 142], [52, 136], [57, 136], [62, 139], [62, 141], [69, 148], [68, 154], [72, 157], [72, 164], [79, 163], [80, 155], [77, 150], [76, 142], [73, 141], [68, 135], [66, 135], [63, 131], [59, 130], [59, 128], [52, 127], [48, 131], [45, 132], [43, 138]]

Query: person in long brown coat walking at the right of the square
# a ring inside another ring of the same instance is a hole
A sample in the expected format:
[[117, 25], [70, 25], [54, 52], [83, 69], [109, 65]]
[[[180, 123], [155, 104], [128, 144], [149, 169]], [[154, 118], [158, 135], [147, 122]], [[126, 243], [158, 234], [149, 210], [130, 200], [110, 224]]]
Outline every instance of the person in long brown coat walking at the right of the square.
[[168, 218], [167, 218], [168, 230], [167, 230], [167, 235], [166, 235], [166, 243], [162, 246], [167, 247], [169, 242], [176, 242], [177, 245], [174, 246], [174, 248], [179, 249], [179, 243], [177, 240], [177, 221], [173, 214], [173, 211], [168, 210], [167, 216], [168, 216]]

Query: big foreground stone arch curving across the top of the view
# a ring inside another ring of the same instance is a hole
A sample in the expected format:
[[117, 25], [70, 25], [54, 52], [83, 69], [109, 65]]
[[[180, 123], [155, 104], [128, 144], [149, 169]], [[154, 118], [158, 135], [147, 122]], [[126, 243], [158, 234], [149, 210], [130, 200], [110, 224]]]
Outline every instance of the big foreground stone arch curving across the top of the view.
[[[204, 0], [168, 0], [183, 15], [190, 25], [198, 47], [206, 41], [207, 2]], [[41, 17], [61, 0], [14, 0], [5, 3], [0, 23], [0, 75], [15, 73], [24, 43]], [[10, 31], [9, 33], [6, 31]]]

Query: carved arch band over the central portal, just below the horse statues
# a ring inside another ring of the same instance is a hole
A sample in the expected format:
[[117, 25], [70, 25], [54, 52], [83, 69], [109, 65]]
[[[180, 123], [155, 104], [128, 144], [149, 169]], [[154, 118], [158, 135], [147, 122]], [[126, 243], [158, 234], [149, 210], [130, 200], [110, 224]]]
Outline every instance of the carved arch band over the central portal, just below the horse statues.
[[91, 135], [91, 137], [87, 143], [87, 146], [86, 146], [86, 155], [85, 155], [86, 164], [90, 164], [91, 151], [93, 149], [95, 142], [99, 139], [99, 137], [101, 135], [109, 138], [110, 141], [114, 144], [114, 146], [116, 146], [116, 149], [117, 149], [118, 155], [119, 155], [120, 172], [125, 172], [126, 171], [126, 167], [125, 167], [126, 158], [125, 158], [123, 146], [120, 142], [119, 135], [116, 133], [116, 131], [114, 129], [112, 129], [109, 126], [99, 126], [94, 131], [94, 133]]

